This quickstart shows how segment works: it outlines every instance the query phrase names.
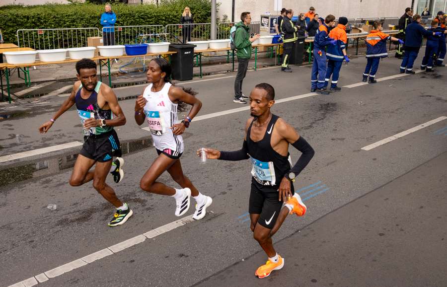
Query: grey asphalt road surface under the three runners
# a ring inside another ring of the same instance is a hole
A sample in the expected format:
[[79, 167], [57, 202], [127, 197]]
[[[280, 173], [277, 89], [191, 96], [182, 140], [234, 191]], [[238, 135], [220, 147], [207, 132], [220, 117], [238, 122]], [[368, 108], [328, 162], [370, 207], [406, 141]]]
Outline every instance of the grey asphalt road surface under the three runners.
[[[184, 135], [181, 161], [185, 174], [213, 198], [205, 218], [184, 219], [170, 231], [159, 228], [179, 218], [172, 198], [139, 188], [156, 157], [153, 147], [124, 156], [121, 183], [108, 179], [134, 211], [119, 227], [107, 226], [112, 207], [91, 184], [68, 184], [71, 169], [2, 186], [0, 212], [6, 216], [0, 224], [0, 286], [34, 276], [42, 279], [44, 272], [52, 277], [56, 272], [47, 271], [108, 247], [103, 251], [108, 256], [88, 264], [75, 261], [70, 266], [77, 268], [39, 286], [443, 286], [447, 121], [441, 117], [447, 116], [447, 69], [400, 76], [400, 61], [389, 58], [381, 61], [377, 78], [391, 78], [364, 85], [365, 64], [365, 58], [357, 58], [343, 65], [339, 86], [360, 84], [327, 96], [308, 94], [311, 67], [293, 67], [293, 73], [282, 73], [279, 67], [258, 70], [244, 80], [247, 95], [257, 83], [273, 84], [279, 102], [272, 112], [316, 151], [295, 183], [307, 213], [289, 216], [273, 238], [286, 259], [283, 270], [262, 280], [254, 277], [267, 257], [246, 220], [250, 163], [201, 164], [195, 155], [203, 146], [235, 150], [242, 144], [249, 111], [232, 110], [243, 105], [232, 102], [234, 73], [228, 73], [184, 84], [204, 104], [199, 114], [204, 117], [193, 121]], [[121, 97], [142, 90], [133, 86], [115, 92]], [[299, 95], [305, 96], [291, 98]], [[1, 121], [0, 156], [82, 141], [75, 110], [64, 114], [47, 135], [37, 132], [63, 100], [48, 97], [38, 105], [11, 108], [22, 113]], [[118, 131], [122, 140], [149, 137], [133, 120], [134, 104], [134, 99], [120, 101], [128, 120]], [[216, 112], [224, 113], [212, 114]], [[389, 143], [362, 149], [440, 118]], [[23, 135], [22, 142], [8, 134]], [[293, 147], [290, 152], [296, 161], [299, 152]], [[175, 186], [166, 174], [160, 181]], [[57, 209], [47, 209], [49, 204]], [[194, 204], [187, 215], [193, 209]], [[141, 236], [153, 229], [166, 232]], [[140, 243], [119, 252], [111, 247], [130, 238]]]

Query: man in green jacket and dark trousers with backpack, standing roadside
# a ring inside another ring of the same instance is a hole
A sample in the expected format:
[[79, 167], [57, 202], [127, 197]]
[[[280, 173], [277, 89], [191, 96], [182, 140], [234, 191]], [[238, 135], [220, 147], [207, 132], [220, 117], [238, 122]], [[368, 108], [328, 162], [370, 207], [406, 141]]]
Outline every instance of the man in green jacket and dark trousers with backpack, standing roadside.
[[242, 12], [240, 14], [240, 22], [237, 23], [236, 32], [234, 33], [234, 45], [237, 49], [237, 75], [234, 80], [234, 100], [233, 102], [239, 104], [246, 104], [248, 99], [242, 93], [242, 81], [247, 73], [248, 69], [248, 61], [251, 58], [251, 43], [258, 39], [261, 35], [257, 34], [253, 37], [250, 37], [250, 23], [251, 16], [250, 12]]

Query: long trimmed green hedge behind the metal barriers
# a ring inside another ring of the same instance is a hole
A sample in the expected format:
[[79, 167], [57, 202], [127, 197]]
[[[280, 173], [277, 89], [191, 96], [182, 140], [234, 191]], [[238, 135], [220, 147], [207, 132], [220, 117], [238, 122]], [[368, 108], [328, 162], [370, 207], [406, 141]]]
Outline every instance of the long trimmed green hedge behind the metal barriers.
[[[211, 0], [160, 0], [158, 5], [113, 3], [112, 10], [117, 14], [116, 26], [165, 26], [178, 24], [185, 6], [191, 8], [195, 23], [211, 21]], [[92, 3], [7, 5], [0, 7], [0, 29], [5, 42], [17, 44], [19, 29], [97, 27], [101, 30], [99, 20], [103, 12], [104, 5]]]

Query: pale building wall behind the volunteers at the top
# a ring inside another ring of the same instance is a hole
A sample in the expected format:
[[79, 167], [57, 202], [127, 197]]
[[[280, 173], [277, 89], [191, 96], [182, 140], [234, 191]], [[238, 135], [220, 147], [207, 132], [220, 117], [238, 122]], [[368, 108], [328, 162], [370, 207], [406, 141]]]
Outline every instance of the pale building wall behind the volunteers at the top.
[[[221, 5], [219, 17], [228, 15], [231, 19], [231, 0], [218, 0]], [[309, 7], [315, 7], [315, 11], [322, 17], [333, 14], [337, 18], [345, 16], [348, 18], [361, 17], [396, 17], [402, 16], [406, 7], [411, 6], [411, 0], [283, 0], [283, 7], [292, 8], [295, 15], [299, 12], [307, 12]], [[274, 9], [274, 0], [235, 0], [234, 21], [239, 21], [240, 13], [251, 12], [252, 21], [259, 21], [261, 14], [270, 12], [279, 14]]]

